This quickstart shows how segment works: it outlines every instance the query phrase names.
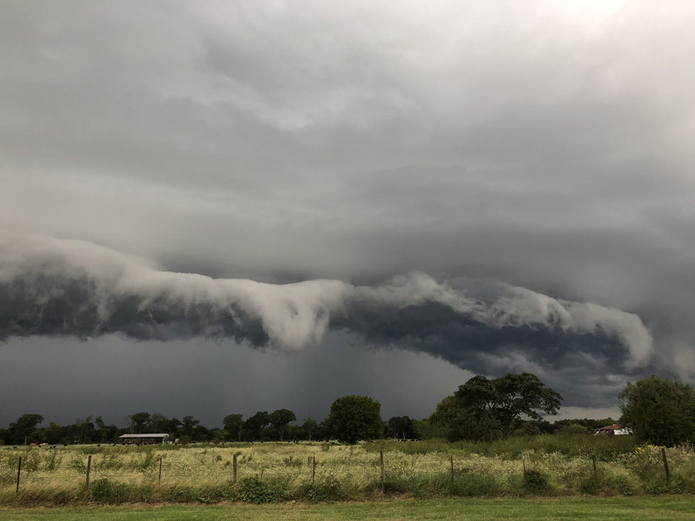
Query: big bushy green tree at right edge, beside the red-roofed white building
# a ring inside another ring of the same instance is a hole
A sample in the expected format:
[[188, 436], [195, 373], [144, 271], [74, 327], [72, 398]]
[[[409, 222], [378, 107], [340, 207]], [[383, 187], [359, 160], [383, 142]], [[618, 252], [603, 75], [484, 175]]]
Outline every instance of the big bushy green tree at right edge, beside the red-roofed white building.
[[695, 443], [695, 390], [680, 380], [652, 375], [627, 383], [618, 395], [620, 424], [654, 445]]

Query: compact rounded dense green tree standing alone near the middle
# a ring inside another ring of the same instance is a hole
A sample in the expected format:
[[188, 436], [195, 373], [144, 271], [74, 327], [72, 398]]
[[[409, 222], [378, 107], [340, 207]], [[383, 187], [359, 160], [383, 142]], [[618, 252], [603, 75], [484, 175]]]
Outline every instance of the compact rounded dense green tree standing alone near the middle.
[[343, 396], [330, 406], [326, 422], [339, 442], [355, 444], [359, 440], [377, 439], [384, 432], [381, 407], [369, 396]]

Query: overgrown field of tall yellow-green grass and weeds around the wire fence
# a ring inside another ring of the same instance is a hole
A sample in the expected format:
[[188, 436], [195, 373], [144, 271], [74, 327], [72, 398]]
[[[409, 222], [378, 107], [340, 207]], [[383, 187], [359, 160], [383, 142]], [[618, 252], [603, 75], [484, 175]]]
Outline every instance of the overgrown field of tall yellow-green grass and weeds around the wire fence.
[[586, 435], [492, 444], [0, 447], [0, 504], [695, 493], [692, 448], [665, 454], [668, 476], [659, 447], [635, 446], [630, 437]]

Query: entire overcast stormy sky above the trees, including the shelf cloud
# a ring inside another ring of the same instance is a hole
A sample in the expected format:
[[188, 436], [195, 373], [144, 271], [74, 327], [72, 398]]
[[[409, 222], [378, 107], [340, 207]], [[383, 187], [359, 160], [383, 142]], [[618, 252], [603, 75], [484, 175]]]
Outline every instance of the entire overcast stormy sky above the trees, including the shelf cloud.
[[690, 1], [0, 4], [0, 426], [695, 381]]

